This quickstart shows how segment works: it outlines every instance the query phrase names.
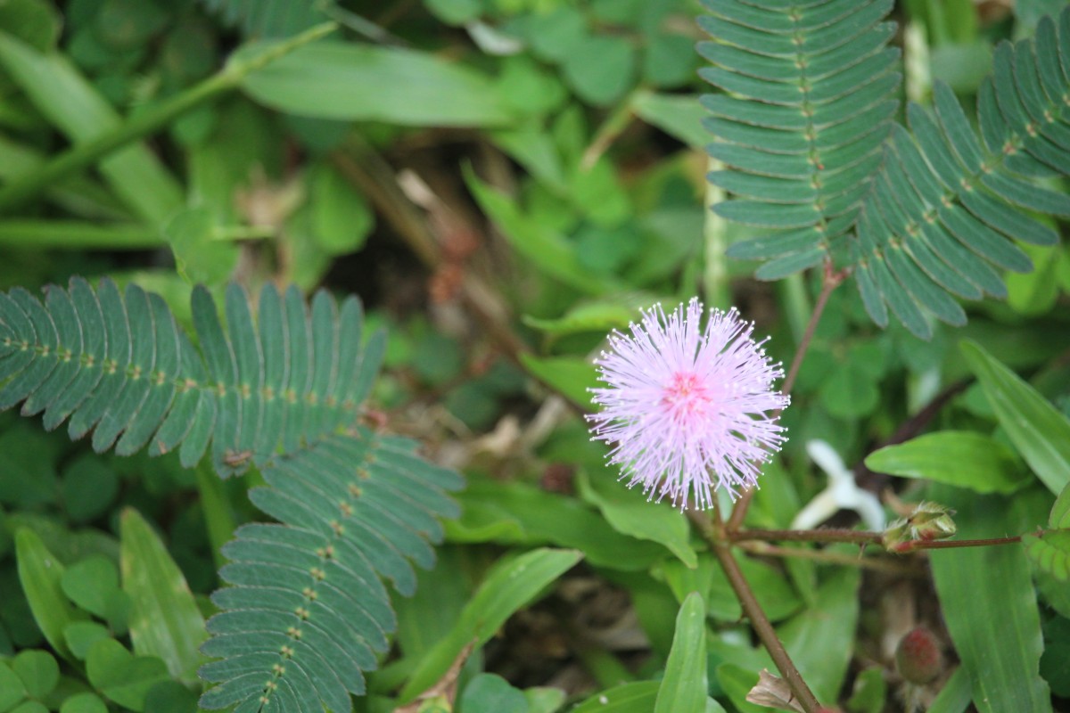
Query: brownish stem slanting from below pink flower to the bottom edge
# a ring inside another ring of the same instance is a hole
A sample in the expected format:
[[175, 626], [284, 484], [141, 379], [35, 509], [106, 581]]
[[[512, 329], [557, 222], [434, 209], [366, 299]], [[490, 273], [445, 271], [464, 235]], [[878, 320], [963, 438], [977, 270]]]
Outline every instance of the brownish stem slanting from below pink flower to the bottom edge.
[[769, 618], [765, 616], [762, 605], [758, 603], [758, 599], [755, 599], [754, 592], [747, 582], [747, 577], [744, 576], [743, 570], [739, 569], [739, 563], [732, 556], [731, 547], [725, 544], [723, 537], [724, 525], [721, 522], [720, 512], [716, 506], [714, 514], [716, 523], [710, 522], [701, 512], [694, 510], [688, 511], [691, 522], [698, 527], [699, 532], [717, 557], [717, 561], [721, 563], [721, 569], [724, 570], [724, 575], [728, 577], [732, 591], [735, 592], [736, 599], [739, 600], [744, 614], [750, 619], [750, 624], [754, 629], [754, 633], [758, 634], [759, 640], [762, 641], [765, 650], [769, 652], [773, 663], [777, 665], [777, 669], [788, 682], [795, 698], [802, 706], [802, 710], [806, 713], [815, 713], [821, 708], [821, 703], [817, 702], [816, 696], [810, 691], [810, 686], [802, 680], [802, 675], [795, 668], [792, 657], [788, 654], [788, 650], [784, 649], [784, 645], [781, 644], [776, 630], [773, 629]]

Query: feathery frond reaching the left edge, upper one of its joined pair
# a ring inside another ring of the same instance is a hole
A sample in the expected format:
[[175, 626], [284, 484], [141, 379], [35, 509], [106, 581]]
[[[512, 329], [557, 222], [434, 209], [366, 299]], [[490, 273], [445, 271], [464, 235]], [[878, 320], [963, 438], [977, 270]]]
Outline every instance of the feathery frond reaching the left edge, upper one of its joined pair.
[[379, 332], [362, 348], [356, 298], [339, 310], [320, 292], [309, 313], [295, 288], [269, 285], [259, 324], [238, 285], [226, 303], [225, 331], [211, 295], [194, 290], [202, 356], [164, 300], [135, 284], [94, 292], [74, 278], [48, 286], [44, 305], [21, 289], [0, 294], [0, 409], [25, 400], [22, 414], [44, 412], [49, 430], [70, 419], [71, 437], [92, 430], [97, 452], [181, 447], [186, 467], [211, 444], [224, 477], [356, 420], [385, 346]]

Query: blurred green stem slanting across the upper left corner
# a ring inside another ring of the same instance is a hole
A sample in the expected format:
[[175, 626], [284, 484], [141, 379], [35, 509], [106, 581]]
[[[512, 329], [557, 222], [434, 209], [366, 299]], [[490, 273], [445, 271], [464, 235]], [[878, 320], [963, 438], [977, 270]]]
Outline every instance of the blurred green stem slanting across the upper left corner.
[[228, 62], [227, 65], [196, 87], [172, 96], [159, 105], [131, 117], [114, 129], [91, 141], [78, 144], [0, 189], [0, 212], [16, 207], [67, 175], [87, 169], [117, 149], [152, 134], [178, 117], [216, 96], [228, 92], [253, 72], [263, 68], [284, 55], [334, 31], [334, 22], [318, 25], [290, 40], [273, 44], [263, 51]]

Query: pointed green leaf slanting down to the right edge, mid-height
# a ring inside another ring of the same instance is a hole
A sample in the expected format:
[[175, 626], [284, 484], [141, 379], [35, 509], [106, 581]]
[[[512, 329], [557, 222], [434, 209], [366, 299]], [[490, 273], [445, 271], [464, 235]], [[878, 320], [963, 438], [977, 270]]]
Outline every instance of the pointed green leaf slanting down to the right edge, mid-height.
[[1070, 420], [977, 343], [961, 348], [999, 425], [1044, 485], [1060, 493], [1070, 483]]

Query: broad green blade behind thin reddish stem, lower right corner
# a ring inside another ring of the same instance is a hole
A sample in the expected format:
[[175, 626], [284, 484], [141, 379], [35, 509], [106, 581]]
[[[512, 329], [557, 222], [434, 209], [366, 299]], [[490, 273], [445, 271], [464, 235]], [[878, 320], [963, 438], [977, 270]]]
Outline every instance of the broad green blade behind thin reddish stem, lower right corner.
[[[929, 497], [958, 511], [963, 539], [996, 537], [1021, 525], [1005, 498], [933, 485]], [[944, 620], [981, 713], [1052, 710], [1039, 676], [1043, 639], [1036, 590], [1018, 545], [930, 553]]]

